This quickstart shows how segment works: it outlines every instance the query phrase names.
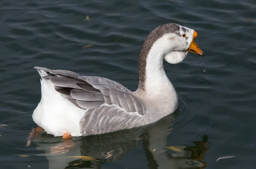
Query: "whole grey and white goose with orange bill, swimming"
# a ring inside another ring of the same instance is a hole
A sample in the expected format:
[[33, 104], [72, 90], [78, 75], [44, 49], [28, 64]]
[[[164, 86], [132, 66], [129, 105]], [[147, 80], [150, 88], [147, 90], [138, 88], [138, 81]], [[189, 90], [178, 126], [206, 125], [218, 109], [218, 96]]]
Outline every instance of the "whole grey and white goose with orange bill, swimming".
[[66, 140], [145, 126], [175, 112], [178, 97], [163, 59], [176, 64], [188, 52], [204, 56], [197, 36], [176, 23], [155, 28], [140, 51], [134, 92], [105, 77], [34, 67], [41, 76], [41, 100], [32, 114], [37, 131]]

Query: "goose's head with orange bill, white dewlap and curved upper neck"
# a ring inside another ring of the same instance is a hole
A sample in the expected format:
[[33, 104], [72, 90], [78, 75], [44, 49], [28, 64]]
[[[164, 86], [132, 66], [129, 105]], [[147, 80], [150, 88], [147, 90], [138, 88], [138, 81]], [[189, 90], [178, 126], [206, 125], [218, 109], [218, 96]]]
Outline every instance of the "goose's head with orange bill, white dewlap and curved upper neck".
[[168, 63], [176, 64], [184, 60], [188, 52], [204, 56], [203, 51], [195, 43], [197, 36], [198, 33], [193, 29], [176, 23], [167, 23], [157, 27], [148, 35], [140, 57], [158, 55]]

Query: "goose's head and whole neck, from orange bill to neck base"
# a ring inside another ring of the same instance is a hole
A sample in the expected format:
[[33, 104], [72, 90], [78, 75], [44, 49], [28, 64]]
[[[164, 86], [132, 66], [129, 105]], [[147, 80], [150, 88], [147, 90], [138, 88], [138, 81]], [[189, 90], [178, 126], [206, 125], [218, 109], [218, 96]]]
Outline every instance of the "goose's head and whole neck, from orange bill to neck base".
[[138, 91], [152, 92], [168, 85], [171, 88], [172, 85], [163, 69], [163, 59], [176, 64], [182, 62], [188, 52], [204, 56], [195, 43], [197, 36], [198, 33], [194, 29], [176, 23], [158, 26], [150, 32], [140, 51]]

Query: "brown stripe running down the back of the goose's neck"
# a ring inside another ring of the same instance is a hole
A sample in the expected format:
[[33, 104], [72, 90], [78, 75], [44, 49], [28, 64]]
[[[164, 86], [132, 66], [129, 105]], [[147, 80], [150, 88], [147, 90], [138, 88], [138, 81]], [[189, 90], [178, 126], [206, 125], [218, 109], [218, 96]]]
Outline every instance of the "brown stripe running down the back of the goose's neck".
[[150, 34], [144, 41], [143, 46], [140, 50], [139, 58], [138, 90], [145, 91], [147, 57], [151, 47], [153, 46], [154, 42], [157, 41], [157, 39], [162, 37], [164, 34], [170, 32], [180, 35], [180, 27], [176, 23], [167, 23], [165, 25], [158, 26], [156, 29], [150, 32]]

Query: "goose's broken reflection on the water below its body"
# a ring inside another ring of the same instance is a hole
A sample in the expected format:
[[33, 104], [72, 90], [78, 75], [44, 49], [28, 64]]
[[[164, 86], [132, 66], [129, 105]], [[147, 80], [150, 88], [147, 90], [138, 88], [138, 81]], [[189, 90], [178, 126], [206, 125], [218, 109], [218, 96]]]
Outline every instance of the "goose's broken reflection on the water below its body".
[[37, 150], [44, 150], [45, 153], [39, 155], [46, 156], [49, 169], [99, 169], [104, 163], [120, 160], [140, 141], [150, 169], [203, 169], [207, 166], [201, 161], [209, 149], [207, 136], [195, 141], [195, 146], [172, 146], [176, 152], [166, 148], [167, 136], [172, 132], [177, 114], [178, 111], [146, 127], [65, 141], [61, 137], [40, 133], [32, 143], [38, 145]]

